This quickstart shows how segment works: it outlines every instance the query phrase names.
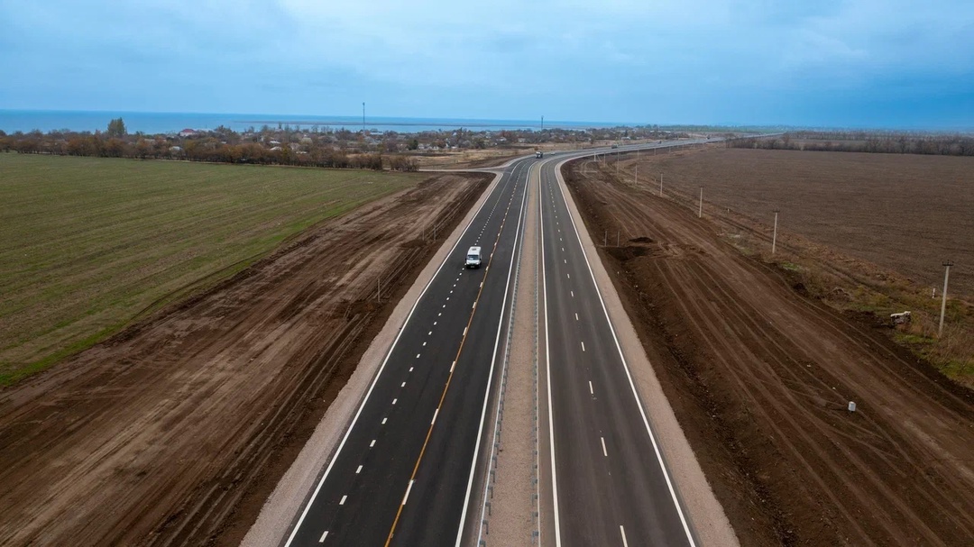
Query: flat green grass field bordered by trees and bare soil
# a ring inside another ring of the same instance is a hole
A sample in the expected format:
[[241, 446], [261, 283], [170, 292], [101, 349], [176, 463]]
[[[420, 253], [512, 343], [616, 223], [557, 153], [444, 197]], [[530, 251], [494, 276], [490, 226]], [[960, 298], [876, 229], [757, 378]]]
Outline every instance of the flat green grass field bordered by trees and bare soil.
[[0, 385], [423, 178], [0, 153]]

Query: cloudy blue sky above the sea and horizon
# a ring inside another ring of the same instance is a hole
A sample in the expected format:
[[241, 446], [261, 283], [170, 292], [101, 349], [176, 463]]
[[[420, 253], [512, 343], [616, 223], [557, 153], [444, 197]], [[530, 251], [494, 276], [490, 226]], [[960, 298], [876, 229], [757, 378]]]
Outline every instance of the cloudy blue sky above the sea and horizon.
[[0, 0], [0, 109], [974, 129], [971, 0]]

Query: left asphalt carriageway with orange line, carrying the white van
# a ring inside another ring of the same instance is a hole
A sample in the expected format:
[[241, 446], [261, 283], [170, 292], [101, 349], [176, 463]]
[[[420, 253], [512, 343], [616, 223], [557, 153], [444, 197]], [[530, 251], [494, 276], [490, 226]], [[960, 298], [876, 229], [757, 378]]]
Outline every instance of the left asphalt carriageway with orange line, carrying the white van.
[[[457, 542], [535, 162], [506, 169], [431, 280], [286, 545]], [[473, 245], [483, 266], [466, 270]]]

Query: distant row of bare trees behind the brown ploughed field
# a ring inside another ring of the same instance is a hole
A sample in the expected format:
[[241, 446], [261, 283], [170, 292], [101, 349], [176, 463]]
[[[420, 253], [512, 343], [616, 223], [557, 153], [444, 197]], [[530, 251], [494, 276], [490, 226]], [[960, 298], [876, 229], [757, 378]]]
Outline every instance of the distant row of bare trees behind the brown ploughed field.
[[726, 142], [728, 148], [974, 156], [974, 137], [959, 134], [795, 131], [773, 137], [735, 138]]

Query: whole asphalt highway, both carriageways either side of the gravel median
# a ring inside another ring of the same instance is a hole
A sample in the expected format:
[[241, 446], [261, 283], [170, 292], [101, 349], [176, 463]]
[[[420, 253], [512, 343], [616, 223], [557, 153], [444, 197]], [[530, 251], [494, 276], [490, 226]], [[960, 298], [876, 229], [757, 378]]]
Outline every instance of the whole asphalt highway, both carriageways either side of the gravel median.
[[[693, 544], [555, 182], [557, 163], [590, 154], [506, 168], [415, 304], [284, 545], [460, 544], [478, 509], [469, 500], [483, 483], [481, 432], [525, 189], [539, 169], [555, 544]], [[473, 245], [483, 266], [466, 270]]]

